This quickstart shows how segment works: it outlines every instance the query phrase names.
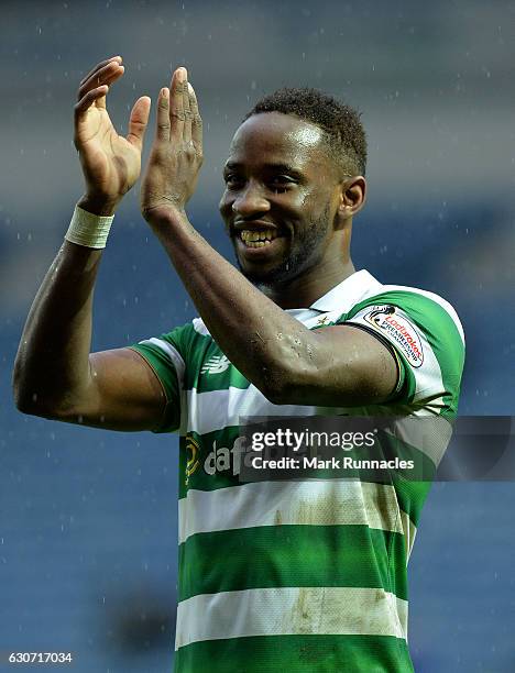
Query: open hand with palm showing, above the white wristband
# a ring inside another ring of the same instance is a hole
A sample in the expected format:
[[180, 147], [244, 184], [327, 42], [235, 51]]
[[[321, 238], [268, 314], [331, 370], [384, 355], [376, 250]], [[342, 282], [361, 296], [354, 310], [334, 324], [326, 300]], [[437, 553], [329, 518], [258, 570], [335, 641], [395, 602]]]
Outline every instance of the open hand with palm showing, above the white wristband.
[[151, 100], [136, 100], [129, 119], [129, 133], [114, 130], [106, 109], [109, 87], [124, 71], [121, 56], [102, 60], [86, 75], [75, 106], [75, 146], [78, 150], [86, 192], [79, 205], [96, 214], [111, 214], [141, 172], [141, 148]]

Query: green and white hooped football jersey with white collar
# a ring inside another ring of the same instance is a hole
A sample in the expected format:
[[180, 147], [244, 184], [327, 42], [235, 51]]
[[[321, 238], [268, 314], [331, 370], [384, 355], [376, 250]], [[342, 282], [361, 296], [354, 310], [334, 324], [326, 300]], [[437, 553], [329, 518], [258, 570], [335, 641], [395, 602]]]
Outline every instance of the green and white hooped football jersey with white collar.
[[382, 285], [366, 271], [288, 312], [309, 329], [352, 323], [391, 344], [401, 372], [392, 401], [273, 405], [199, 319], [133, 346], [166, 393], [160, 431], [180, 433], [176, 671], [413, 671], [406, 565], [429, 484], [240, 483], [238, 423], [245, 416], [451, 418], [463, 330], [437, 295]]

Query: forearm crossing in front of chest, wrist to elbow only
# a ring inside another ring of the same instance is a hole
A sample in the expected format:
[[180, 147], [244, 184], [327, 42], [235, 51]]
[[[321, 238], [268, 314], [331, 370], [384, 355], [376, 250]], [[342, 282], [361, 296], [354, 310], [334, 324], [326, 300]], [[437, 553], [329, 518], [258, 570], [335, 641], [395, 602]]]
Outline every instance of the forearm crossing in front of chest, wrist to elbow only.
[[295, 369], [316, 366], [317, 335], [246, 280], [186, 216], [153, 229], [215, 341], [265, 395], [280, 397]]

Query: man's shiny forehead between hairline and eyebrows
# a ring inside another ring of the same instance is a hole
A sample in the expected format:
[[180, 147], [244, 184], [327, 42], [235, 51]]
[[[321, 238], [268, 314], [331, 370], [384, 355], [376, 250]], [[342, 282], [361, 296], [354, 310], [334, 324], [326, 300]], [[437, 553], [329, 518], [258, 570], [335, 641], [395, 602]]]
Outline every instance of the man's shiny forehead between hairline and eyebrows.
[[238, 129], [228, 163], [318, 167], [327, 164], [324, 140], [324, 131], [316, 124], [289, 114], [262, 112], [250, 117]]

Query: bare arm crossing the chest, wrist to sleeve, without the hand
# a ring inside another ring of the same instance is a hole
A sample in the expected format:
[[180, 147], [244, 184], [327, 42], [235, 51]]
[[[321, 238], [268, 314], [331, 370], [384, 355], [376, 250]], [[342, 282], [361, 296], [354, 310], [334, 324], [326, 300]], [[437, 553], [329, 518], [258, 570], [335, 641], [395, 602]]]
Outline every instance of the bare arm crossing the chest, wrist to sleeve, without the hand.
[[308, 330], [213, 251], [185, 216], [157, 235], [215, 341], [275, 404], [381, 404], [397, 383], [391, 351], [350, 326]]

